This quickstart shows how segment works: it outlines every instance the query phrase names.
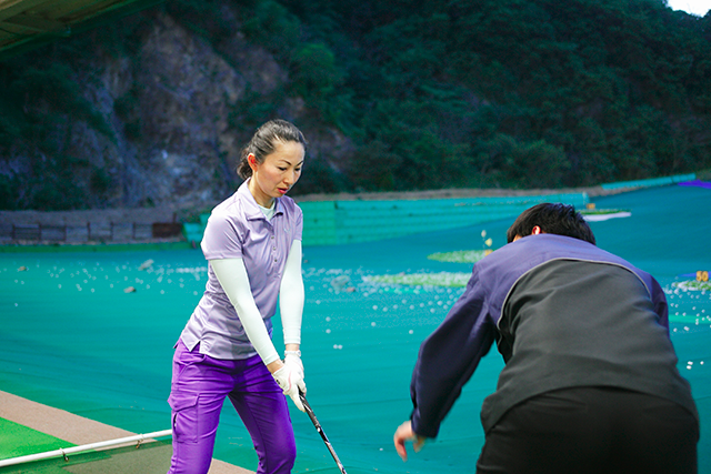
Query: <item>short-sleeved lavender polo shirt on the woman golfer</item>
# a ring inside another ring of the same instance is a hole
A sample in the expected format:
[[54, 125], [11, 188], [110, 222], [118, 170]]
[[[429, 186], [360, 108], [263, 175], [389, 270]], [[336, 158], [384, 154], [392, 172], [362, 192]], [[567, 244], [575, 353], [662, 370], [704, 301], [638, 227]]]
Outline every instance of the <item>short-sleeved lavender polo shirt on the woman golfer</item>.
[[[294, 240], [301, 240], [303, 214], [291, 198], [278, 198], [271, 221], [264, 218], [244, 181], [210, 214], [202, 253], [210, 260], [242, 259], [257, 307], [271, 335], [279, 286]], [[192, 350], [214, 359], [247, 359], [257, 354], [218, 278], [208, 265], [208, 283], [180, 335]]]

